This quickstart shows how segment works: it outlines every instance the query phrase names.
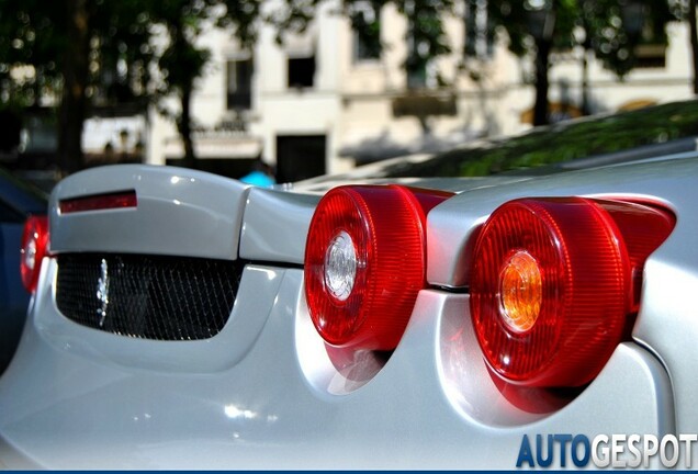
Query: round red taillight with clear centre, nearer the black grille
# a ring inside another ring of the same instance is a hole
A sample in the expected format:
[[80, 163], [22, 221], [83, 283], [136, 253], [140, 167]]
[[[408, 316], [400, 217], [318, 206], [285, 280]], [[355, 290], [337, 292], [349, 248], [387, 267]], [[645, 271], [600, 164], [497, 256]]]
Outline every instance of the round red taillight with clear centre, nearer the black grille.
[[305, 295], [329, 345], [392, 350], [425, 285], [425, 221], [452, 194], [339, 187], [318, 203], [305, 249]]

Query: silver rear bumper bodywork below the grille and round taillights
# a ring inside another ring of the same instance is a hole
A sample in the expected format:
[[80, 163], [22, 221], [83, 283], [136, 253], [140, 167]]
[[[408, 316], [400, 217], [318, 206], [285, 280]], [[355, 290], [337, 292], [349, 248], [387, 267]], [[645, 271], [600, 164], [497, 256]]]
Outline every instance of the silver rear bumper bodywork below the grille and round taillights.
[[[470, 325], [468, 296], [437, 291], [419, 295], [387, 362], [339, 393], [350, 379], [304, 329], [302, 271], [274, 274], [280, 285], [243, 284], [238, 301], [250, 311], [239, 317], [266, 324], [237, 363], [216, 372], [59, 347], [35, 313], [0, 380], [0, 458], [16, 460], [9, 443], [52, 469], [513, 469], [525, 433], [674, 429], [668, 377], [632, 343], [564, 408], [517, 408], [461, 330]], [[255, 307], [263, 285], [278, 285], [271, 309]], [[158, 343], [135, 342], [146, 360], [166, 356]], [[170, 342], [169, 353], [185, 345]]]

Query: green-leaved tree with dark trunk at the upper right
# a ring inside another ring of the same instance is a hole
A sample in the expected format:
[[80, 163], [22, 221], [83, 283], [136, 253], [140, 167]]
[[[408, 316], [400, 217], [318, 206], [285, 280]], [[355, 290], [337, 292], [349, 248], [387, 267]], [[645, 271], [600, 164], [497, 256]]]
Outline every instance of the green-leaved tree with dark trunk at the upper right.
[[[534, 125], [548, 123], [552, 50], [579, 44], [622, 78], [635, 64], [635, 47], [644, 42], [666, 44], [666, 23], [675, 19], [666, 0], [489, 1], [487, 11], [491, 20], [506, 31], [511, 53], [536, 57]], [[548, 27], [540, 31], [543, 19]]]

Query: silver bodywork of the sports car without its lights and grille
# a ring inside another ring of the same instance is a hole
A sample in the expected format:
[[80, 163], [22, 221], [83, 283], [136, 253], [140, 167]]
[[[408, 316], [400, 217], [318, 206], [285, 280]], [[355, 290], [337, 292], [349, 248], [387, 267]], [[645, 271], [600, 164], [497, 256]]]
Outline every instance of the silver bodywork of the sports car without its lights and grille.
[[[196, 341], [82, 327], [58, 311], [57, 263], [46, 259], [19, 351], [0, 379], [0, 462], [10, 469], [509, 470], [525, 435], [698, 432], [698, 158], [464, 184], [428, 216], [430, 285], [399, 345], [386, 360], [345, 353], [341, 369], [312, 326], [300, 268], [317, 194], [250, 191], [181, 169], [112, 171], [79, 173], [55, 191], [52, 250], [233, 260], [239, 235], [247, 263], [230, 318]], [[199, 184], [174, 190], [173, 177]], [[124, 189], [136, 189], [137, 211], [55, 211], [61, 199]], [[678, 217], [648, 261], [632, 340], [573, 394], [503, 385], [470, 319], [473, 229], [510, 199], [542, 195], [651, 198]], [[214, 229], [202, 228], [210, 207]]]

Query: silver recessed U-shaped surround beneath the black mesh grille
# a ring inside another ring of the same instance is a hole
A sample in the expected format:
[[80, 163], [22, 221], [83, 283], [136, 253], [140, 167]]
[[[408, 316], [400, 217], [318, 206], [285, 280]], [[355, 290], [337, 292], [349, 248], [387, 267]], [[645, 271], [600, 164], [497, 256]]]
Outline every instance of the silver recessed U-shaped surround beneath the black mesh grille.
[[[38, 336], [54, 350], [102, 364], [168, 373], [217, 373], [244, 359], [267, 320], [283, 275], [274, 268], [246, 267], [239, 292], [255, 293], [257, 297], [238, 298], [216, 337], [172, 343], [120, 337], [72, 324], [60, 314], [53, 296], [56, 261], [46, 259], [44, 270], [46, 280], [36, 297], [34, 323]], [[248, 314], [260, 316], [245, 316]]]

